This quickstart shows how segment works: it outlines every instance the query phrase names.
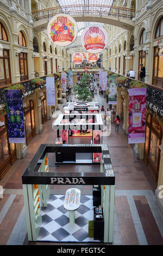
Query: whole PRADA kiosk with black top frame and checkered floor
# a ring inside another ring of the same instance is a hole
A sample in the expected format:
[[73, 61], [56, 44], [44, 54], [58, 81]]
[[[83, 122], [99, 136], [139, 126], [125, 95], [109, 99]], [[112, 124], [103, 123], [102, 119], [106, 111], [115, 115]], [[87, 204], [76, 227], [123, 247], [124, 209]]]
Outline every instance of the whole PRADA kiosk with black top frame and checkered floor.
[[[48, 153], [58, 152], [101, 153], [99, 171], [54, 172]], [[115, 175], [107, 144], [41, 144], [22, 184], [29, 241], [112, 243]], [[80, 193], [87, 185], [91, 196]], [[64, 193], [52, 194], [58, 186]]]

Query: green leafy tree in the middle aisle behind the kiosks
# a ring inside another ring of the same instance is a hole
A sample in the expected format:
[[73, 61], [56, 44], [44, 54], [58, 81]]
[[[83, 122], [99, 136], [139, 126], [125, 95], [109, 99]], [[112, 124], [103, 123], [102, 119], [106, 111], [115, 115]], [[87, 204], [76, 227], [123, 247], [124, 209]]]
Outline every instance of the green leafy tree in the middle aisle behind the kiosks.
[[90, 80], [89, 74], [83, 74], [80, 84], [76, 84], [74, 86], [74, 93], [78, 94], [78, 100], [81, 101], [92, 101], [92, 93], [89, 90], [89, 87], [87, 86], [87, 81]]

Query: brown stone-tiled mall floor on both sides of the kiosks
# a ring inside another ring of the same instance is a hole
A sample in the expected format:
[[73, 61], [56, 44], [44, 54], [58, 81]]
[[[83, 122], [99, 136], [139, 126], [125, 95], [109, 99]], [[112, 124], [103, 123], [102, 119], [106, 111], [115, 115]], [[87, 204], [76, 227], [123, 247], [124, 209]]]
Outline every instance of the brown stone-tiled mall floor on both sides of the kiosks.
[[[94, 100], [107, 107], [104, 97], [98, 93]], [[0, 245], [57, 244], [28, 241], [21, 178], [39, 145], [55, 141], [57, 132], [52, 129], [54, 120], [52, 118], [43, 125], [43, 132], [29, 143], [26, 157], [17, 160], [0, 181], [4, 188], [3, 199], [0, 199]], [[121, 127], [118, 133], [114, 131], [115, 125], [112, 123], [111, 135], [103, 138], [103, 142], [109, 145], [116, 177], [112, 245], [163, 245], [163, 216], [154, 196], [156, 183], [145, 163], [136, 159], [133, 145], [128, 144]], [[53, 189], [64, 194], [61, 186]], [[91, 186], [83, 186], [83, 194], [91, 192]]]

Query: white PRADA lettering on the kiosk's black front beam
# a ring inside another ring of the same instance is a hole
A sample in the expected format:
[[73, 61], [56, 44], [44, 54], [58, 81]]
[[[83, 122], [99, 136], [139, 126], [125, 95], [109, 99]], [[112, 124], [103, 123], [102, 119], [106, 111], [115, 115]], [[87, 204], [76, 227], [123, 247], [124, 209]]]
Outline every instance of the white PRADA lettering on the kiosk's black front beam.
[[51, 178], [51, 184], [85, 184], [82, 178]]

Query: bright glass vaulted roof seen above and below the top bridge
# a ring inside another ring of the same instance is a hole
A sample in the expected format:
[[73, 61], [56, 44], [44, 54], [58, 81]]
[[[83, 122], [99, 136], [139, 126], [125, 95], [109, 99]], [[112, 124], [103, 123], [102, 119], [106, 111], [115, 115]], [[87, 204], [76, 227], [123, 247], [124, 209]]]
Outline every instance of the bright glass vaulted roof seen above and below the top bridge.
[[[80, 10], [81, 14], [91, 14], [91, 9], [97, 11], [104, 11], [106, 6], [105, 5], [112, 5], [114, 0], [58, 0], [58, 3], [62, 7], [62, 10], [64, 13], [68, 14], [68, 7], [71, 6], [71, 14], [70, 15], [76, 15], [76, 11]], [[73, 13], [72, 13], [73, 9]], [[108, 9], [108, 8], [107, 8]], [[85, 27], [90, 26], [92, 24], [94, 25], [100, 25], [104, 27], [104, 23], [98, 23], [98, 22], [77, 22], [78, 24], [78, 36], [82, 34], [82, 31]]]

